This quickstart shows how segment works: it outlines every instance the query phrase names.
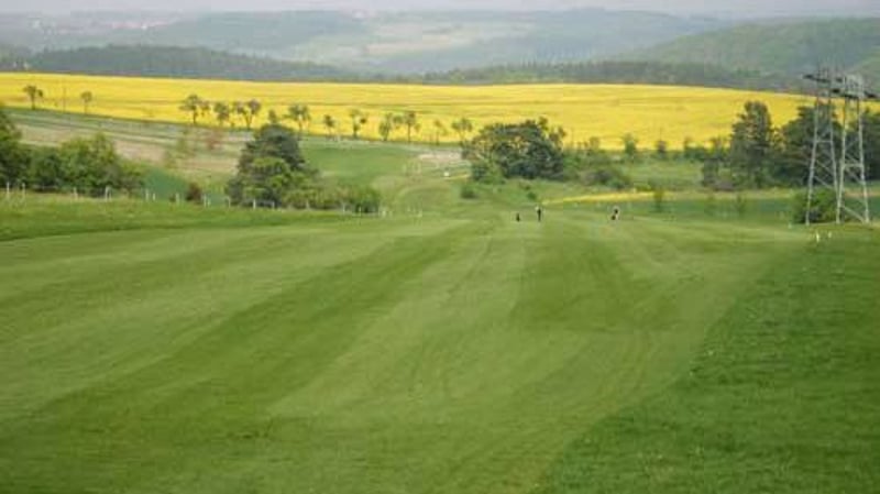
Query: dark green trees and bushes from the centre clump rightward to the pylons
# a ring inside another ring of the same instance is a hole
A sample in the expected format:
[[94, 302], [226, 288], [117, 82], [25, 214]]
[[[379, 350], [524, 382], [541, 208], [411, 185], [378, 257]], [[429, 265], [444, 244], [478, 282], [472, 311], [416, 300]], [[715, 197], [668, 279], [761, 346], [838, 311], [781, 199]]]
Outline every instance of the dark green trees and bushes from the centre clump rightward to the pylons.
[[[865, 160], [868, 179], [880, 179], [880, 112], [866, 111]], [[590, 185], [617, 189], [632, 186], [625, 164], [638, 163], [650, 153], [654, 160], [686, 160], [702, 163], [702, 184], [713, 190], [744, 190], [768, 187], [802, 187], [809, 173], [813, 145], [814, 108], [801, 107], [798, 117], [776, 127], [766, 103], [749, 101], [728, 135], [698, 144], [682, 142], [671, 151], [664, 140], [650, 151], [639, 147], [632, 134], [620, 138], [622, 151], [614, 155], [597, 138], [565, 146], [565, 132], [546, 119], [520, 123], [496, 123], [463, 141], [462, 154], [472, 165], [476, 182], [506, 178], [580, 179]], [[837, 135], [845, 130], [838, 124]], [[846, 132], [856, 132], [855, 128]]]

